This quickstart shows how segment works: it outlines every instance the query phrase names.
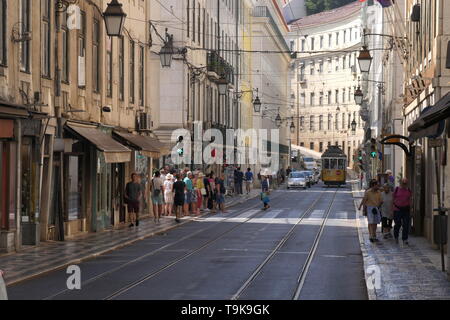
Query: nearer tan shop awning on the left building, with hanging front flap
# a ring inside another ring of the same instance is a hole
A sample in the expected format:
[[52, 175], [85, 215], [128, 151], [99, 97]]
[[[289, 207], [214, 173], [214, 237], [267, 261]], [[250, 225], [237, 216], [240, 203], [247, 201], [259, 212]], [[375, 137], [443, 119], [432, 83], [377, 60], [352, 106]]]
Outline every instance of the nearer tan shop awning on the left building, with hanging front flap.
[[66, 124], [70, 130], [88, 140], [102, 151], [106, 163], [123, 163], [131, 161], [131, 150], [114, 140], [110, 135], [95, 127]]

